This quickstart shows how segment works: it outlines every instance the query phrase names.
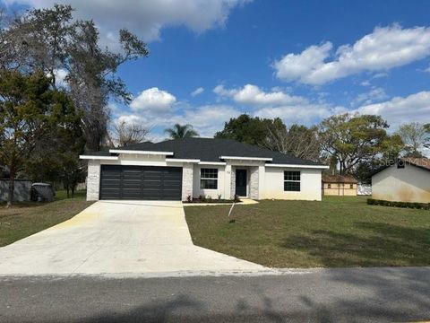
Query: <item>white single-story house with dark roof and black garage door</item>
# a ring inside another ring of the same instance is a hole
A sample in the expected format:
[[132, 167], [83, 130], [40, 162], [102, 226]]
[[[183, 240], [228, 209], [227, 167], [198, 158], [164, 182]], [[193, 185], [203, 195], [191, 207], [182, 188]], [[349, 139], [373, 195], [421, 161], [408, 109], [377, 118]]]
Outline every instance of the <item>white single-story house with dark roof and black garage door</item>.
[[327, 166], [228, 139], [184, 138], [82, 155], [87, 199], [321, 200]]

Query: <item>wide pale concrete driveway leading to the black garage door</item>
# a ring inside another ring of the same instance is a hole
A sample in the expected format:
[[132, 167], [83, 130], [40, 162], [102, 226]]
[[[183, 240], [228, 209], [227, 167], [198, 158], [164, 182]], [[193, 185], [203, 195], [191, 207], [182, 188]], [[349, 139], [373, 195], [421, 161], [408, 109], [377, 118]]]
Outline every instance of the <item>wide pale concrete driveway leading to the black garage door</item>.
[[193, 245], [181, 202], [99, 201], [0, 248], [0, 275], [172, 275], [267, 268]]

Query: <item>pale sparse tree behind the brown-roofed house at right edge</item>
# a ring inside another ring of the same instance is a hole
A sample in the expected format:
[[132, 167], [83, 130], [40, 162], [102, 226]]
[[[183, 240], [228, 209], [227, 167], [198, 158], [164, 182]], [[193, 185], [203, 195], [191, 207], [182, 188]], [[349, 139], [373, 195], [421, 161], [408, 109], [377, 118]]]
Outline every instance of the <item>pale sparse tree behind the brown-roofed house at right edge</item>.
[[423, 125], [418, 122], [401, 124], [396, 131], [400, 135], [401, 140], [405, 144], [405, 156], [407, 157], [423, 157], [422, 149], [429, 141], [430, 131], [428, 125]]

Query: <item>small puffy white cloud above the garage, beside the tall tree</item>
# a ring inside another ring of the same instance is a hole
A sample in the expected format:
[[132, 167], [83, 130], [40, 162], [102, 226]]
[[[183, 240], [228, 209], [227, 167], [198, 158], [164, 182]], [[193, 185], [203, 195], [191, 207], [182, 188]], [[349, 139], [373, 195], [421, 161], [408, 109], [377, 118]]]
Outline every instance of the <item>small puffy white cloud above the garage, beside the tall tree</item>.
[[168, 112], [176, 102], [175, 96], [157, 87], [142, 91], [130, 103], [134, 110], [150, 110], [153, 112]]

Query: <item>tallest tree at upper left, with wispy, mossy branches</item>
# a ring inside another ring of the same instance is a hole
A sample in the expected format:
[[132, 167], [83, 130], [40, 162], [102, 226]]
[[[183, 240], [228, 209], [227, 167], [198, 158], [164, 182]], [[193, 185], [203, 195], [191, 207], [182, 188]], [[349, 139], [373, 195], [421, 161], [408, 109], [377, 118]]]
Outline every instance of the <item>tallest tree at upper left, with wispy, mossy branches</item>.
[[87, 149], [99, 150], [107, 135], [109, 99], [128, 103], [131, 95], [116, 75], [119, 65], [146, 57], [146, 45], [129, 31], [119, 31], [120, 50], [99, 46], [99, 31], [92, 21], [73, 19], [70, 5], [31, 10], [0, 31], [0, 66], [22, 73], [41, 70], [54, 89], [59, 72], [66, 74], [65, 89], [82, 111]]

